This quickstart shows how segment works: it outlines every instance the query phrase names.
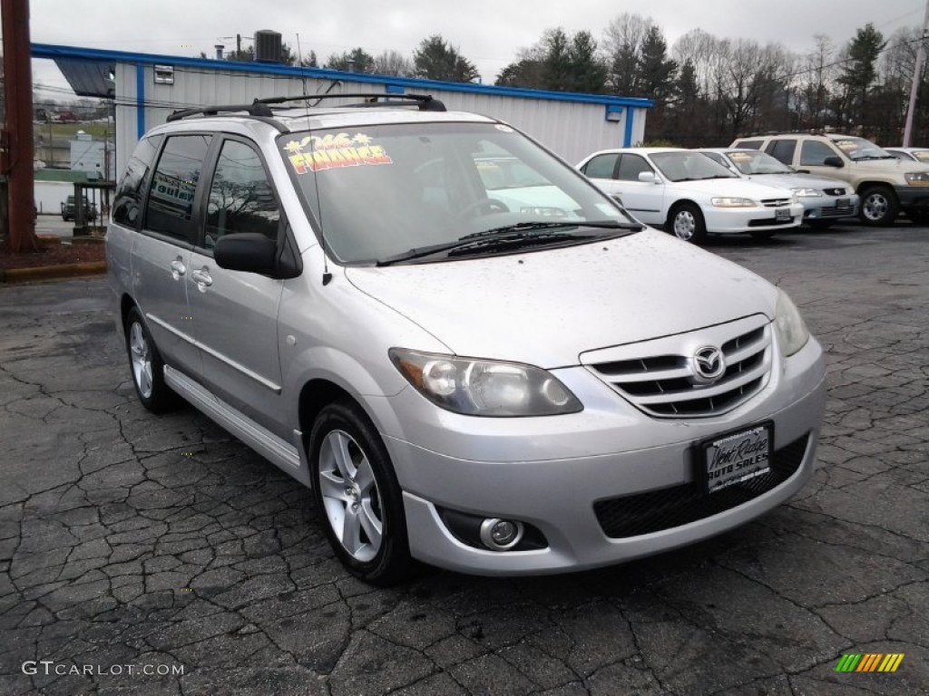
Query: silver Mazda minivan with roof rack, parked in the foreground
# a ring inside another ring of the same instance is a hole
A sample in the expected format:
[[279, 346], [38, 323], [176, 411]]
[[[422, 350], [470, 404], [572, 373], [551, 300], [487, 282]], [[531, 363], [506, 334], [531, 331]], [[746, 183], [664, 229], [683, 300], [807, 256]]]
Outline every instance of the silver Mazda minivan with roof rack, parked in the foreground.
[[107, 249], [142, 404], [309, 486], [350, 572], [590, 568], [804, 485], [823, 356], [785, 293], [504, 122], [318, 98], [154, 128]]

